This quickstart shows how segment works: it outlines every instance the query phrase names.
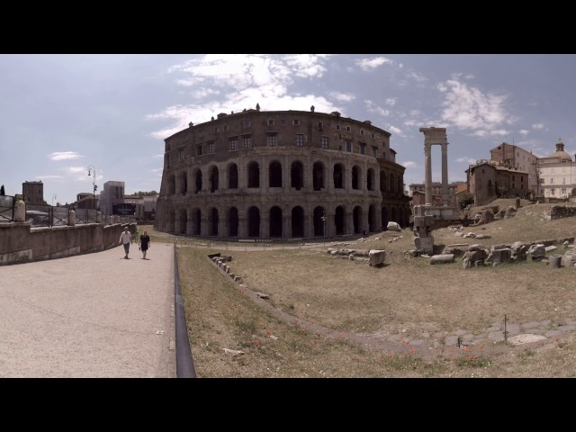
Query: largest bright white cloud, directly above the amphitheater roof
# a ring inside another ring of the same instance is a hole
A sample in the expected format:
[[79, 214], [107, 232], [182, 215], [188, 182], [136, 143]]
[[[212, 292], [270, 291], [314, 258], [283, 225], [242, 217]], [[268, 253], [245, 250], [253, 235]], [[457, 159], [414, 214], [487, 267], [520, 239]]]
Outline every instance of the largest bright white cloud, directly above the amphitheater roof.
[[[169, 72], [179, 75], [177, 83], [192, 86], [197, 98], [209, 98], [202, 103], [168, 106], [164, 110], [146, 116], [150, 121], [169, 121], [171, 124], [151, 133], [154, 139], [166, 139], [179, 130], [194, 124], [210, 121], [220, 112], [242, 112], [256, 108], [263, 111], [308, 111], [314, 105], [319, 112], [338, 111], [341, 107], [323, 96], [289, 92], [295, 79], [322, 76], [327, 68], [329, 55], [251, 55], [210, 54], [194, 58], [170, 67]], [[354, 94], [338, 94], [335, 98], [348, 102]]]

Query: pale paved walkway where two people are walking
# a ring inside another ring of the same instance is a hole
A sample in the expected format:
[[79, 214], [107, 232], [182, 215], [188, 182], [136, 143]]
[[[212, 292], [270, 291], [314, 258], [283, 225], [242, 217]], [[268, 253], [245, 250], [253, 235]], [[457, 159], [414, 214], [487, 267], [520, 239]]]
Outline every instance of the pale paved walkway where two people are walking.
[[0, 266], [0, 377], [175, 377], [174, 246]]

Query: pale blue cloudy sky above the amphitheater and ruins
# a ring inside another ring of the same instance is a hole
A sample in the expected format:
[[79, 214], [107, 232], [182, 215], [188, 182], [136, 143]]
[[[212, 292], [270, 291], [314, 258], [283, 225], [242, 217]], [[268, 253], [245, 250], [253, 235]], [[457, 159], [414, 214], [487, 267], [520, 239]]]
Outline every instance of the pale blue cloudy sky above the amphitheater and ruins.
[[[392, 133], [405, 184], [424, 181], [421, 127], [446, 128], [448, 177], [464, 181], [502, 142], [576, 153], [576, 55], [3, 54], [0, 184], [42, 181], [56, 204], [123, 181], [159, 192], [164, 139], [220, 112], [338, 111]], [[432, 148], [441, 180], [440, 148]]]

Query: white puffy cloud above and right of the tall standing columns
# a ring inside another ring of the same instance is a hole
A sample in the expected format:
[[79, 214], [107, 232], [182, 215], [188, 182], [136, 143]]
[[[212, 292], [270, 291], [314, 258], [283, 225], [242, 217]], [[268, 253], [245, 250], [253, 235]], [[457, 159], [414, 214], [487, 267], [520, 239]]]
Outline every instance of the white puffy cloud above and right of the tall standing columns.
[[483, 94], [480, 89], [455, 79], [437, 85], [437, 89], [444, 93], [442, 119], [457, 128], [474, 130], [473, 135], [483, 137], [502, 123], [516, 121], [506, 112], [504, 94]]

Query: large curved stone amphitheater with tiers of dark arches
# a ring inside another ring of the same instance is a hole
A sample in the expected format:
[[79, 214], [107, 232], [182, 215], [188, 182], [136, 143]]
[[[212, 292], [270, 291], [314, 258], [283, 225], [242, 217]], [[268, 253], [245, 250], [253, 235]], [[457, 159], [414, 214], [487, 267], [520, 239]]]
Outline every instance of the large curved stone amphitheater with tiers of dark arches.
[[155, 228], [207, 238], [335, 238], [409, 223], [391, 134], [339, 112], [260, 111], [165, 139]]

